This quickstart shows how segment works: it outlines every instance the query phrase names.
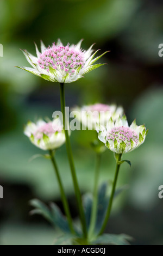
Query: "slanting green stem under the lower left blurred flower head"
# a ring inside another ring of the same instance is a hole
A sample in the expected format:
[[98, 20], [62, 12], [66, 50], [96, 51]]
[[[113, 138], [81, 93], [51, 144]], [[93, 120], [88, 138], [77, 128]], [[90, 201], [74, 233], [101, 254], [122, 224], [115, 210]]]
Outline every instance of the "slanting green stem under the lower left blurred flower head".
[[53, 163], [53, 166], [54, 166], [55, 174], [57, 175], [59, 188], [60, 188], [61, 199], [62, 199], [62, 203], [64, 205], [65, 214], [67, 216], [68, 225], [70, 227], [70, 230], [71, 230], [72, 234], [74, 234], [75, 232], [74, 232], [74, 229], [73, 229], [72, 218], [71, 218], [71, 214], [70, 214], [70, 208], [68, 206], [68, 202], [67, 202], [66, 194], [65, 194], [65, 191], [64, 191], [64, 187], [63, 187], [62, 182], [61, 182], [58, 166], [57, 166], [57, 163], [55, 161], [53, 151], [49, 150], [49, 154], [51, 156], [51, 160], [52, 160], [52, 163]]

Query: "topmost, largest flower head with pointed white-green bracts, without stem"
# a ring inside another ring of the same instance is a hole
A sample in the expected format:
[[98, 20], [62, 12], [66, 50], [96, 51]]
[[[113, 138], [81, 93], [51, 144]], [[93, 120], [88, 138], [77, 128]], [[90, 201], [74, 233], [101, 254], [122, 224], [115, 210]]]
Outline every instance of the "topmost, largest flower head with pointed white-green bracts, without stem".
[[41, 42], [41, 52], [39, 52], [35, 45], [37, 57], [26, 50], [23, 51], [29, 64], [33, 66], [33, 69], [27, 67], [18, 68], [51, 82], [71, 83], [77, 81], [93, 69], [104, 65], [93, 65], [93, 63], [106, 53], [104, 52], [101, 56], [93, 59], [99, 50], [92, 54], [93, 45], [87, 51], [84, 51], [80, 48], [81, 44], [82, 40], [77, 45], [67, 44], [64, 46], [58, 40], [57, 44], [54, 43], [52, 46], [46, 48], [43, 42]]

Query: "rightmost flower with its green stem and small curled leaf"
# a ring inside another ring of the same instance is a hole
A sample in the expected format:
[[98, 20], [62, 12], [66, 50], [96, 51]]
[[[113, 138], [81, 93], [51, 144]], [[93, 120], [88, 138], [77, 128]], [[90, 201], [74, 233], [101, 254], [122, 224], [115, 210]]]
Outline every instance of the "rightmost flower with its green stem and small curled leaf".
[[115, 122], [110, 118], [106, 127], [99, 125], [97, 132], [99, 140], [102, 141], [108, 149], [114, 152], [117, 163], [108, 209], [101, 231], [99, 232], [99, 235], [101, 235], [110, 217], [120, 166], [123, 162], [130, 164], [129, 160], [121, 160], [122, 154], [138, 148], [145, 141], [148, 130], [146, 130], [145, 125], [137, 126], [135, 120], [129, 126], [126, 115], [123, 115], [122, 118], [119, 117]]

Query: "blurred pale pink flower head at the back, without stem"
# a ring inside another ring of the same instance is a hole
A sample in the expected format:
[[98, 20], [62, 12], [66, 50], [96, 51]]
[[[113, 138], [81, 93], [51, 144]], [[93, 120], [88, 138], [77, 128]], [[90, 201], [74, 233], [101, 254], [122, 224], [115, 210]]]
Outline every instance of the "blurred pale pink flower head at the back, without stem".
[[83, 106], [82, 108], [73, 108], [77, 111], [77, 118], [80, 122], [88, 127], [89, 130], [96, 129], [96, 124], [106, 125], [110, 117], [112, 120], [116, 120], [119, 116], [122, 117], [124, 110], [122, 107], [116, 105], [105, 105], [102, 103], [96, 103], [94, 105]]

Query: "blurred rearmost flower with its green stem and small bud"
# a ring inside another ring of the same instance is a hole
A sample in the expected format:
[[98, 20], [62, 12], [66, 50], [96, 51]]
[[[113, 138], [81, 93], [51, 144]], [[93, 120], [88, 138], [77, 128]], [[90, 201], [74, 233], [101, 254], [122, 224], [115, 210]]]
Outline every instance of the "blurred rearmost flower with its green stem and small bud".
[[[102, 103], [96, 103], [93, 105], [85, 105], [83, 107], [74, 107], [72, 109], [76, 113], [77, 119], [82, 124], [82, 127], [88, 130], [95, 130], [96, 126], [101, 124], [106, 125], [110, 118], [114, 121], [122, 116], [124, 110], [122, 107], [117, 107], [116, 105], [106, 105]], [[96, 130], [95, 130], [96, 132]], [[96, 133], [97, 136], [97, 133]], [[92, 141], [92, 149], [96, 153], [96, 167], [95, 167], [95, 180], [93, 187], [93, 203], [91, 210], [91, 221], [89, 228], [89, 239], [91, 239], [97, 218], [97, 194], [98, 194], [98, 180], [99, 180], [99, 169], [101, 164], [101, 155], [106, 149], [105, 145], [101, 143], [98, 139]]]

